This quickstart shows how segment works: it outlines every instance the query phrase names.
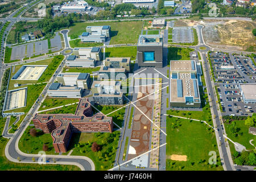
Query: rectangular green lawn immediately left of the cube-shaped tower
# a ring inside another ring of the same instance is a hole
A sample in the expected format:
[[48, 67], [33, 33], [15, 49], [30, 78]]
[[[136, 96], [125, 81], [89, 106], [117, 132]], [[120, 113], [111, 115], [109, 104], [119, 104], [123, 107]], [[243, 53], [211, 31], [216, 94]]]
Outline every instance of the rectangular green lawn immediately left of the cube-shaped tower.
[[136, 46], [106, 48], [105, 53], [105, 57], [130, 57], [131, 60], [135, 60], [136, 55]]

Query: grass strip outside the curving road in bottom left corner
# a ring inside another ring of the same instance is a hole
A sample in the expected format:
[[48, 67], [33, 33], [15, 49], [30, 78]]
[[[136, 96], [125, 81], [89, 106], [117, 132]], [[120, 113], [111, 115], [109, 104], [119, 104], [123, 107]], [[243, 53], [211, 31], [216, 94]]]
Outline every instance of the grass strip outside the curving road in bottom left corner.
[[[5, 127], [5, 119], [0, 117], [0, 133], [3, 132]], [[0, 171], [80, 171], [77, 166], [60, 165], [60, 164], [33, 164], [33, 163], [14, 163], [10, 162], [5, 156], [5, 146], [8, 139], [0, 137]]]

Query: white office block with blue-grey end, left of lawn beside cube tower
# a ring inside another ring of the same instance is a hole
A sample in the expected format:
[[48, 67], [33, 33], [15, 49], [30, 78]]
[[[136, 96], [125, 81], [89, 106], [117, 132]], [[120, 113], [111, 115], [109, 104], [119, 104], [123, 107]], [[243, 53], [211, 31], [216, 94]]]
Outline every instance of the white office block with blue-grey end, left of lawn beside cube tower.
[[102, 60], [102, 52], [100, 47], [84, 47], [76, 48], [79, 51], [80, 58], [95, 59], [96, 61]]

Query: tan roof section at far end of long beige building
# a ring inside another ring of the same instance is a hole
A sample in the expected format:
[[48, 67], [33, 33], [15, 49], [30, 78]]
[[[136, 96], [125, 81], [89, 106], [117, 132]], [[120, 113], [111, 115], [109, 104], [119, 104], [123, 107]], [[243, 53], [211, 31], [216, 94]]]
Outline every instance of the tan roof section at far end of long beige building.
[[170, 62], [170, 71], [178, 71], [178, 72], [191, 72], [196, 71], [196, 64], [193, 60], [187, 61], [171, 61]]

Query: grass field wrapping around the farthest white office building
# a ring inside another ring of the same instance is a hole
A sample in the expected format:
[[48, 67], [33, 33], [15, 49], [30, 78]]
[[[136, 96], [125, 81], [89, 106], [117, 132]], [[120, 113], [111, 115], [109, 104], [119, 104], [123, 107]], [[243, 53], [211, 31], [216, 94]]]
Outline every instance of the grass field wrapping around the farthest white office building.
[[71, 39], [76, 39], [82, 32], [86, 31], [87, 26], [109, 25], [112, 30], [110, 44], [135, 44], [138, 42], [139, 34], [141, 34], [142, 24], [142, 21], [75, 23], [69, 28], [68, 36]]

